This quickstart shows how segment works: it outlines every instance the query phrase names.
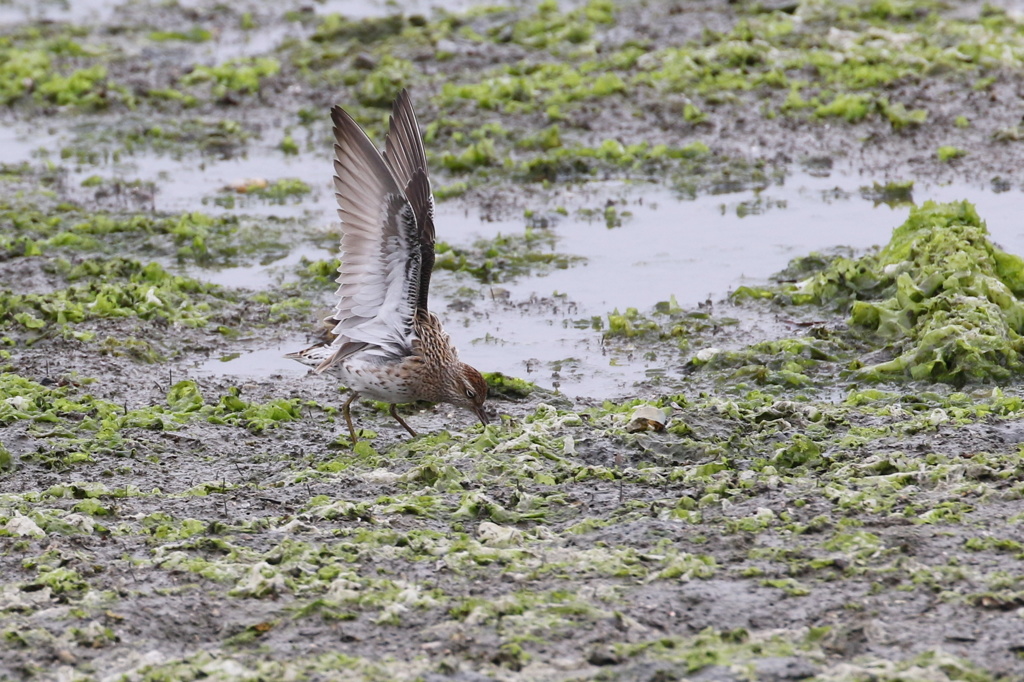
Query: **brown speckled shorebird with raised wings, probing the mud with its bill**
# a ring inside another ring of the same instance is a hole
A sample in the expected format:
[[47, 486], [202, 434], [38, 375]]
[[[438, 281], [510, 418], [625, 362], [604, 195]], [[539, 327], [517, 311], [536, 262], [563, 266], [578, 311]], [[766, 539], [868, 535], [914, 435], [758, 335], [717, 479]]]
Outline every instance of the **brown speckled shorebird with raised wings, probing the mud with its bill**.
[[334, 122], [334, 187], [341, 218], [338, 303], [325, 318], [333, 339], [286, 357], [327, 372], [348, 387], [342, 408], [352, 444], [350, 408], [360, 395], [391, 404], [428, 400], [471, 410], [487, 424], [487, 384], [459, 359], [427, 308], [434, 266], [434, 198], [413, 100], [398, 93], [382, 155], [340, 106]]

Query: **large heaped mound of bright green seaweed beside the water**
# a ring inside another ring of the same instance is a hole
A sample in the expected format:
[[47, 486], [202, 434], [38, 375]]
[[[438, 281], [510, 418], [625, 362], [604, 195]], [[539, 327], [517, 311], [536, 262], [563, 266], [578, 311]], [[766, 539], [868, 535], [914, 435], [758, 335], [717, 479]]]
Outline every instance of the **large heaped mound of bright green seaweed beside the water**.
[[785, 294], [848, 309], [887, 344], [890, 359], [854, 363], [860, 379], [963, 385], [1024, 371], [1024, 260], [992, 244], [966, 201], [926, 202], [881, 251], [835, 258]]

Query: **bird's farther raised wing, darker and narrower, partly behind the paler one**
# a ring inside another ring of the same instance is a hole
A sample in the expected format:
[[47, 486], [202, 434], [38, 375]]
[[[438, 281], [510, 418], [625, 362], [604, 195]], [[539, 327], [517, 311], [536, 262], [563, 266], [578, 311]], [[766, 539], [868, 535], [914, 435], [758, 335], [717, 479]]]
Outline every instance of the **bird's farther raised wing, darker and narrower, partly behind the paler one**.
[[[409, 90], [403, 89], [394, 100], [384, 139], [384, 159], [412, 204], [420, 228], [420, 295], [417, 307], [426, 310], [430, 273], [434, 269], [434, 196], [430, 191], [427, 156], [423, 151], [423, 137]], [[423, 171], [422, 179], [417, 176], [420, 170]], [[414, 180], [419, 186], [413, 186]]]

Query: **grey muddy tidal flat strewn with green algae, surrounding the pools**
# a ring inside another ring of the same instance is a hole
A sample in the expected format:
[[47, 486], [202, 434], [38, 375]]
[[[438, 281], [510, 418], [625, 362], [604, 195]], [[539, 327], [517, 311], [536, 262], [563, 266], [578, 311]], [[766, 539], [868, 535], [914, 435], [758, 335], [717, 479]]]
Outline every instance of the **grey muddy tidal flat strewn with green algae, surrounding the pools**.
[[[679, 379], [569, 397], [489, 376], [496, 424], [411, 406], [411, 439], [365, 402], [352, 447], [331, 381], [194, 372], [313, 328], [336, 263], [258, 290], [202, 274], [332, 239], [249, 210], [325, 188], [268, 170], [173, 212], [120, 165], [319, 163], [330, 104], [380, 139], [411, 86], [438, 196], [484, 215], [590, 179], [693, 196], [795, 169], [885, 174], [866, 190], [888, 202], [920, 178], [1019, 193], [1019, 17], [141, 1], [2, 34], [5, 125], [45, 141], [0, 168], [0, 678], [1024, 677], [1024, 268], [970, 206], [595, 324]], [[550, 266], [528, 247], [453, 245], [464, 286], [435, 309], [487, 314], [504, 268]], [[784, 333], [733, 324], [759, 315]]]

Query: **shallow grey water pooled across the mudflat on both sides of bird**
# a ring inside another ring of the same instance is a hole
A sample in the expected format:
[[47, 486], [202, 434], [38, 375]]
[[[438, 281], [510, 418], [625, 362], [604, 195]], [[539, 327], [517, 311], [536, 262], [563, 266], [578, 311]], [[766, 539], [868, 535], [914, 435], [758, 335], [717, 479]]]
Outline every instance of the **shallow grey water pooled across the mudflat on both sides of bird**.
[[[17, 163], [38, 158], [41, 148], [52, 155], [60, 146], [60, 133], [40, 137], [15, 125], [0, 132], [0, 142], [7, 150], [7, 163]], [[253, 144], [247, 156], [230, 160], [198, 155], [175, 159], [144, 152], [117, 163], [73, 168], [68, 181], [78, 186], [97, 174], [152, 181], [158, 187], [154, 200], [158, 211], [305, 215], [310, 229], [336, 226], [327, 152], [304, 152], [282, 159], [266, 144], [267, 140]], [[313, 193], [284, 206], [247, 203], [225, 209], [212, 202], [224, 185], [246, 177], [297, 177], [313, 187]], [[649, 311], [671, 296], [683, 307], [694, 308], [707, 299], [720, 301], [741, 285], [763, 284], [792, 258], [812, 251], [840, 247], [861, 251], [885, 244], [892, 229], [906, 219], [909, 207], [892, 208], [865, 199], [860, 188], [871, 185], [874, 179], [838, 171], [827, 177], [798, 173], [762, 189], [693, 200], [680, 199], [667, 187], [648, 183], [580, 185], [543, 207], [564, 206], [568, 215], [549, 213], [551, 226], [535, 229], [549, 229], [555, 237], [554, 250], [580, 256], [582, 262], [494, 287], [438, 271], [433, 287], [435, 311], [445, 322], [464, 359], [481, 370], [525, 376], [570, 395], [629, 394], [634, 382], [651, 374], [671, 376], [674, 368], [660, 359], [632, 356], [628, 349], [610, 352], [600, 332], [582, 321], [594, 316], [606, 319], [608, 312], [627, 307]], [[81, 191], [87, 199], [92, 190], [83, 187]], [[1012, 253], [1024, 254], [1019, 191], [997, 194], [980, 185], [919, 183], [913, 199], [918, 203], [969, 200], [998, 244]], [[621, 226], [608, 227], [602, 217], [609, 201], [624, 216]], [[596, 217], [587, 218], [581, 209], [589, 209]], [[481, 220], [456, 201], [438, 206], [436, 223], [439, 240], [468, 246], [480, 238], [522, 233], [527, 220]], [[267, 265], [222, 269], [189, 266], [181, 271], [217, 284], [259, 290], [278, 279], [294, 278], [295, 265], [303, 257], [333, 255], [308, 241], [299, 242], [288, 256]], [[468, 311], [446, 309], [442, 301], [467, 286], [481, 292], [474, 306]], [[330, 288], [324, 291], [322, 302], [330, 306]], [[735, 312], [718, 310], [719, 314]], [[281, 355], [303, 347], [307, 331], [295, 330], [294, 348], [266, 348], [250, 342], [223, 359], [216, 357], [197, 366], [196, 371], [240, 379], [280, 373], [302, 375], [304, 367]]]

